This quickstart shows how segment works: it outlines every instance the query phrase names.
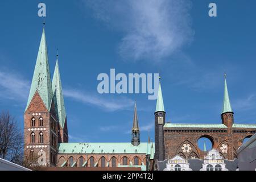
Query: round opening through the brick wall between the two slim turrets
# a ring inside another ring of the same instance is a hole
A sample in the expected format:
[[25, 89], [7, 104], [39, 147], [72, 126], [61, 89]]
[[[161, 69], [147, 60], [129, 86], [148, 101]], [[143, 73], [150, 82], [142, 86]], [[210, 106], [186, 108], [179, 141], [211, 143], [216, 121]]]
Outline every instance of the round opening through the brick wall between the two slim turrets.
[[197, 139], [197, 147], [203, 152], [212, 150], [213, 146], [214, 146], [214, 139], [210, 135], [201, 135]]

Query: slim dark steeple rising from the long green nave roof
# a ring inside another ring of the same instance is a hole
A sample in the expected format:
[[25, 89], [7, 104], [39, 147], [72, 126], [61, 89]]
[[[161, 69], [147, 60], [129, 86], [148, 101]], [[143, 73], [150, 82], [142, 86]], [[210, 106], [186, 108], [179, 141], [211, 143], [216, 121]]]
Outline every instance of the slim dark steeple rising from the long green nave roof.
[[140, 142], [141, 140], [140, 140], [139, 123], [138, 123], [138, 116], [137, 116], [137, 105], [135, 102], [133, 129], [131, 129], [131, 144], [133, 144], [134, 146], [138, 146]]

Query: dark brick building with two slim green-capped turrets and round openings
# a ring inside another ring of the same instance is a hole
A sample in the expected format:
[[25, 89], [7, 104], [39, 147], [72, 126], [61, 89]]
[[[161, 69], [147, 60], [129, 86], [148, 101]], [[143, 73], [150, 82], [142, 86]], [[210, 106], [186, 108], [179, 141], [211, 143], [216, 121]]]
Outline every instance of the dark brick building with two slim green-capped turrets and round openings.
[[197, 144], [200, 138], [208, 138], [212, 148], [226, 160], [238, 158], [237, 151], [243, 140], [256, 132], [256, 124], [234, 122], [226, 74], [224, 76], [224, 101], [221, 123], [166, 123], [161, 84], [155, 110], [155, 160], [160, 162], [176, 155], [183, 159], [204, 159], [207, 150]]

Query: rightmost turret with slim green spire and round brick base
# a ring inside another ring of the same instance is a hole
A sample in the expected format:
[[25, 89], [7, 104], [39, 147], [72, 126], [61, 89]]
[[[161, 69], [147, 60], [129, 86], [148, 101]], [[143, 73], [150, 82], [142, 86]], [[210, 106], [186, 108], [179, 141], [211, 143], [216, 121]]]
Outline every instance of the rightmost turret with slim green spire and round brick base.
[[221, 113], [222, 123], [228, 127], [232, 127], [234, 123], [234, 113], [229, 101], [229, 93], [228, 93], [228, 86], [226, 84], [226, 73], [224, 75], [224, 100], [223, 100], [223, 107]]

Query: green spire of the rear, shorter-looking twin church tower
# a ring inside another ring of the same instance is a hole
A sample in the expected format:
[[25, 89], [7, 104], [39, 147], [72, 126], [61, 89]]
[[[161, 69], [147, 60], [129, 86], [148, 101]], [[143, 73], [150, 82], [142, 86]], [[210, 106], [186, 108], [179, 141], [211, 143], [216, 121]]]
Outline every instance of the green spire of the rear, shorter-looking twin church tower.
[[58, 59], [56, 61], [55, 71], [52, 78], [52, 92], [53, 92], [53, 101], [56, 108], [57, 118], [59, 119], [60, 126], [64, 128], [66, 111], [63, 98], [63, 90], [60, 80], [60, 71]]

